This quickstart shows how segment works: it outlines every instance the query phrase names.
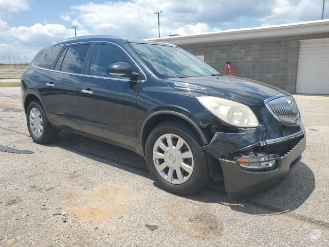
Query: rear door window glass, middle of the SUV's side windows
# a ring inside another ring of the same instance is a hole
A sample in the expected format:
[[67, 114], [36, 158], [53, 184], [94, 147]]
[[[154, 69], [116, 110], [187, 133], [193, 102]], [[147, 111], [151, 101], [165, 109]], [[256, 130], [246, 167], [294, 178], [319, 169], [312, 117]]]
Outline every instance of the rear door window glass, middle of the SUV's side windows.
[[87, 45], [73, 45], [68, 47], [65, 57], [63, 59], [61, 71], [69, 73], [82, 73], [84, 60], [89, 49]]

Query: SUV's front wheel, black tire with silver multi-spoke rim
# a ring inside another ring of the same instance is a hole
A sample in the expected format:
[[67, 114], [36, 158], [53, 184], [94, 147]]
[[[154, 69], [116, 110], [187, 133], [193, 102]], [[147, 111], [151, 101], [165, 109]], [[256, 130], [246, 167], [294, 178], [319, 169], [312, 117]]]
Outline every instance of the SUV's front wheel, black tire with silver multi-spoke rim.
[[145, 158], [159, 187], [189, 195], [210, 179], [199, 140], [189, 126], [166, 121], [155, 127], [145, 144]]

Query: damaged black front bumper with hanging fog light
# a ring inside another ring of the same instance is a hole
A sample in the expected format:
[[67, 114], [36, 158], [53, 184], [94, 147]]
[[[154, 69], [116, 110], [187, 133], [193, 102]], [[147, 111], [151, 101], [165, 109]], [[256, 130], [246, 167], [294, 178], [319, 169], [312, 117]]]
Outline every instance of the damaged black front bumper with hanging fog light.
[[[266, 139], [262, 126], [243, 133], [216, 132], [204, 150], [216, 157], [223, 170], [229, 198], [242, 198], [280, 182], [301, 160], [305, 130]], [[258, 163], [258, 164], [257, 164]]]

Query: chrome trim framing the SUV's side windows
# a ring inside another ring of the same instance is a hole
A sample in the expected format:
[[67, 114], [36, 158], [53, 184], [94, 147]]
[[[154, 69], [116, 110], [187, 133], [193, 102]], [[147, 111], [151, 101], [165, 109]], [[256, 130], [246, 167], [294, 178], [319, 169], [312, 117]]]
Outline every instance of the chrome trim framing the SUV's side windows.
[[[63, 44], [63, 45], [56, 45], [56, 46], [52, 46], [52, 47], [48, 47], [44, 50], [47, 50], [47, 49], [50, 49], [50, 48], [53, 48], [53, 47], [58, 47], [58, 46], [71, 46], [71, 45], [76, 45], [76, 44], [86, 44], [86, 43], [108, 43], [108, 44], [113, 44], [117, 47], [119, 47], [121, 50], [123, 50], [123, 52], [132, 60], [132, 62], [135, 64], [135, 66], [140, 70], [140, 72], [143, 74], [144, 76], [144, 80], [140, 80], [139, 82], [145, 82], [148, 80], [147, 76], [145, 75], [145, 73], [143, 72], [143, 70], [140, 68], [140, 66], [136, 63], [136, 61], [128, 54], [128, 52], [126, 52], [120, 45], [116, 44], [116, 43], [113, 43], [113, 42], [110, 42], [110, 41], [86, 41], [86, 42], [76, 42], [76, 43], [70, 43], [70, 44]], [[44, 51], [43, 50], [43, 51]], [[40, 52], [41, 53], [41, 52]], [[39, 54], [40, 55], [40, 54]], [[95, 77], [95, 78], [102, 78], [102, 79], [108, 79], [108, 80], [113, 80], [114, 78], [111, 78], [111, 77], [100, 77], [100, 76], [93, 76], [93, 75], [86, 75], [86, 74], [77, 74], [77, 73], [70, 73], [70, 72], [64, 72], [64, 71], [59, 71], [59, 70], [53, 70], [53, 69], [48, 69], [48, 68], [41, 68], [41, 67], [38, 67], [38, 66], [34, 66], [34, 61], [37, 57], [36, 56], [32, 63], [31, 63], [31, 66], [34, 67], [34, 68], [40, 68], [40, 69], [44, 69], [44, 70], [49, 70], [51, 72], [59, 72], [59, 73], [63, 73], [63, 74], [69, 74], [69, 75], [80, 75], [80, 76], [88, 76], [88, 77]], [[115, 78], [117, 79], [117, 78]], [[120, 79], [118, 78], [119, 81], [131, 81], [131, 80], [126, 80], [126, 79]]]

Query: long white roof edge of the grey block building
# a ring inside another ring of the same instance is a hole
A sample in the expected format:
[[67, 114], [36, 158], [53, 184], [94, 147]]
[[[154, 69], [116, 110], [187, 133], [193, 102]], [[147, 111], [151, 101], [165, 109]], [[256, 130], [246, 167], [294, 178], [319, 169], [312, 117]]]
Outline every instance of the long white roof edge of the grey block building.
[[175, 45], [329, 32], [329, 19], [147, 39]]

